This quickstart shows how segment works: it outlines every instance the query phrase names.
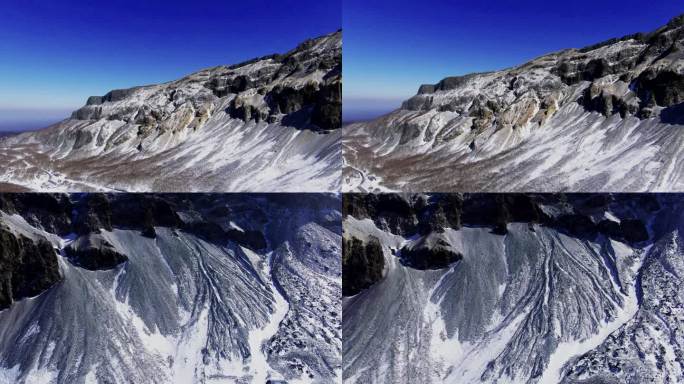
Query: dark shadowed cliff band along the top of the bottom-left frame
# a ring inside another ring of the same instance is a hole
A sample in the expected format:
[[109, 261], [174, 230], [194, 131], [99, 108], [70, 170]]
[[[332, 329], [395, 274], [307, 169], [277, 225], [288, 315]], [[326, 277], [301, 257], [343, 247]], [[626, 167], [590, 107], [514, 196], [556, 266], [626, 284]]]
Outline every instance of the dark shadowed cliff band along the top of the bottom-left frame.
[[[87, 237], [118, 228], [139, 230], [143, 236], [155, 238], [155, 227], [166, 227], [188, 231], [212, 242], [231, 240], [253, 250], [266, 247], [262, 231], [228, 226], [226, 219], [231, 211], [225, 207], [218, 206], [182, 219], [178, 205], [184, 205], [183, 201], [191, 197], [183, 194], [3, 194], [0, 210], [18, 213], [30, 224], [61, 236], [74, 233]], [[203, 203], [209, 205], [211, 201]]]

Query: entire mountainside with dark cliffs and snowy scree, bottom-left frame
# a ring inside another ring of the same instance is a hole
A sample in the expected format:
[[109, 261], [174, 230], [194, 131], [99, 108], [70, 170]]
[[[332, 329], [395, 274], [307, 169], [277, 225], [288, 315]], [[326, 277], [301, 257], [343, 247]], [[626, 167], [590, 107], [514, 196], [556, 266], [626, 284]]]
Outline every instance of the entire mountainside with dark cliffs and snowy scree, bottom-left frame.
[[0, 383], [341, 382], [339, 209], [0, 194]]

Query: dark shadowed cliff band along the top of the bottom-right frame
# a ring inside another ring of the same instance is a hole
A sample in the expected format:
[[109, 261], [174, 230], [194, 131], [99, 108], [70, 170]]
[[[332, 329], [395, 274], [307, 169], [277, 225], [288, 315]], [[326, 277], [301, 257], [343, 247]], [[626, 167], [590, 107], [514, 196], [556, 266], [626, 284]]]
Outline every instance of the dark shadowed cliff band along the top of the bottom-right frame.
[[[611, 206], [628, 201], [644, 213], [658, 210], [648, 195], [611, 194], [347, 194], [343, 213], [371, 219], [378, 228], [396, 235], [426, 236], [464, 225], [491, 228], [500, 235], [509, 223], [537, 223], [576, 237], [598, 234], [627, 242], [648, 240], [639, 217], [606, 219]], [[639, 203], [635, 203], [639, 201]], [[548, 207], [554, 207], [550, 209]]]

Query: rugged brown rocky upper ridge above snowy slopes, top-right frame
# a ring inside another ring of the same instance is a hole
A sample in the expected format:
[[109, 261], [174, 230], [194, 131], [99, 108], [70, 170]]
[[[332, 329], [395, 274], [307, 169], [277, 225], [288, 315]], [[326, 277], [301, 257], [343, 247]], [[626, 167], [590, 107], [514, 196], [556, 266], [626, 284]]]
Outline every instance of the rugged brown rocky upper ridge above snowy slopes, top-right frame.
[[441, 115], [447, 125], [474, 131], [542, 125], [562, 105], [574, 102], [606, 116], [677, 122], [680, 114], [673, 108], [684, 101], [683, 19], [519, 67], [422, 85], [402, 108]]

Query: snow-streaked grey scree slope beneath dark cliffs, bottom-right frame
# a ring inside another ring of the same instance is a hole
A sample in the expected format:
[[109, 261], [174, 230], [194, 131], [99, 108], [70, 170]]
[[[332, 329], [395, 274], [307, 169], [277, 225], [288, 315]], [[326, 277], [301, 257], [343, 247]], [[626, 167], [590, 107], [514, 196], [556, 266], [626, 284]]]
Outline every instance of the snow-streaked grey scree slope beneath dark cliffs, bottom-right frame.
[[606, 211], [648, 223], [635, 244], [537, 223], [443, 228], [463, 258], [438, 270], [400, 261], [421, 235], [347, 216], [345, 238], [379, 239], [386, 267], [343, 300], [345, 383], [684, 381], [684, 195], [658, 199]]

